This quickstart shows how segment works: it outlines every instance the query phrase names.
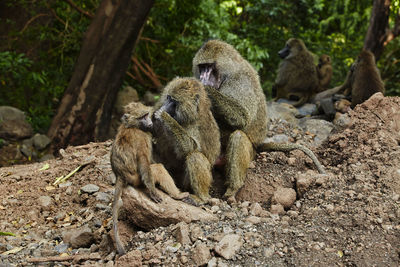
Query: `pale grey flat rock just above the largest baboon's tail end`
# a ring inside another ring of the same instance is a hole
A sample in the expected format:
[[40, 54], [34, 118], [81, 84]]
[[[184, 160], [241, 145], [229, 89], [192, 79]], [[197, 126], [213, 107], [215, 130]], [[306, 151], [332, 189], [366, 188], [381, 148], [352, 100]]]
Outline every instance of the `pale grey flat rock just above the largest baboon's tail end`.
[[305, 132], [315, 134], [314, 144], [319, 146], [332, 132], [334, 125], [326, 120], [303, 118], [300, 120], [300, 127]]

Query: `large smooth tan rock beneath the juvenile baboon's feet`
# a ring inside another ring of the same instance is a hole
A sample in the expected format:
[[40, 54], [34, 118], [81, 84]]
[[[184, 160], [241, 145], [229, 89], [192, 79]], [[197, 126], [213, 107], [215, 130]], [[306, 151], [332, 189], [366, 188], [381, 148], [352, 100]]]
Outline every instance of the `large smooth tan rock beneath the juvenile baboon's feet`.
[[191, 221], [214, 221], [217, 217], [200, 207], [177, 201], [158, 190], [161, 203], [154, 203], [146, 193], [128, 187], [122, 194], [128, 221], [143, 229], [150, 230], [160, 226]]

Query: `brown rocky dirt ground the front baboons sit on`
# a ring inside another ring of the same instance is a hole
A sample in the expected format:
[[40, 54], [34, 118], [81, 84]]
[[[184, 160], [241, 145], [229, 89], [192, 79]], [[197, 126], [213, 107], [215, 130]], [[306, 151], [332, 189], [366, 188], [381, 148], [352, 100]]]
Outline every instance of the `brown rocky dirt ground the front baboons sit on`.
[[287, 121], [269, 126], [270, 137], [319, 144], [327, 175], [300, 151], [263, 152], [237, 201], [220, 200], [215, 175], [201, 207], [214, 220], [145, 230], [122, 211], [122, 257], [110, 237], [111, 141], [0, 168], [0, 231], [15, 234], [0, 236], [0, 266], [399, 266], [400, 98], [375, 95], [349, 117], [321, 144]]

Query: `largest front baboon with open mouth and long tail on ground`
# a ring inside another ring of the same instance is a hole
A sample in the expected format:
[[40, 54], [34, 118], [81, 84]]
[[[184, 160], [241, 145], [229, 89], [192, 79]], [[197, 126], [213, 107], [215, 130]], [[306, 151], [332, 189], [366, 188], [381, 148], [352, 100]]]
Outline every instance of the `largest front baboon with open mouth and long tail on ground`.
[[[313, 68], [315, 71], [314, 63]], [[221, 130], [227, 176], [224, 197], [234, 196], [243, 186], [255, 148], [311, 152], [297, 144], [263, 143], [267, 133], [265, 95], [256, 70], [231, 45], [219, 40], [206, 42], [193, 58], [193, 73], [206, 85]]]

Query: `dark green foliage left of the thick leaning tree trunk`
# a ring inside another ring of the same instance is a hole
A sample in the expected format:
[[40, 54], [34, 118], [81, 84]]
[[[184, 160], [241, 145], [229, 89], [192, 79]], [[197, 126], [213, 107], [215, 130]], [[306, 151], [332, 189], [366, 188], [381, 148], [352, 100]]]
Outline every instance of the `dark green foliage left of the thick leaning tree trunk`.
[[[99, 1], [84, 1], [95, 11]], [[90, 20], [65, 1], [4, 1], [0, 31], [0, 105], [26, 112], [37, 132], [45, 133], [66, 89]], [[1, 32], [0, 32], [1, 33]]]

